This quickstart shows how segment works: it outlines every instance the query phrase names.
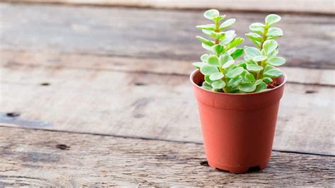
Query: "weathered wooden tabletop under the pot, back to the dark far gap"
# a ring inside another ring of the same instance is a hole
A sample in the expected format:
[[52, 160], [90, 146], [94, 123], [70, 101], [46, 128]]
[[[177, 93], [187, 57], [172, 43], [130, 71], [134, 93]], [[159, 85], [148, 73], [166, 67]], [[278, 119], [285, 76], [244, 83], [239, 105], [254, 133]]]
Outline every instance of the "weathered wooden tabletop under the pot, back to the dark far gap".
[[[0, 187], [335, 186], [334, 16], [281, 13], [288, 83], [272, 158], [233, 175], [206, 163], [188, 78], [202, 11], [0, 10]], [[266, 15], [225, 13], [239, 36]]]

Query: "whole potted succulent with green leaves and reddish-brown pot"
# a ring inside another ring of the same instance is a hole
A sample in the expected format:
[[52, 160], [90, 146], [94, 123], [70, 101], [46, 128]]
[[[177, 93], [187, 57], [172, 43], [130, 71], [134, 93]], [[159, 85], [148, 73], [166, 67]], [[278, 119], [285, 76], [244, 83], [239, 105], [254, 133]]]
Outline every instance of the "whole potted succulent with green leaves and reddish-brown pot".
[[[285, 63], [278, 57], [277, 37], [283, 35], [273, 27], [281, 20], [276, 14], [266, 16], [265, 23], [252, 23], [245, 36], [255, 47], [237, 48], [243, 38], [230, 28], [235, 19], [225, 19], [215, 9], [204, 17], [213, 24], [196, 28], [213, 38], [196, 36], [208, 54], [193, 65], [191, 74], [198, 102], [204, 148], [213, 168], [244, 173], [249, 168], [263, 169], [271, 157], [272, 143], [283, 95], [286, 74], [276, 66]], [[241, 60], [237, 60], [244, 54]]]

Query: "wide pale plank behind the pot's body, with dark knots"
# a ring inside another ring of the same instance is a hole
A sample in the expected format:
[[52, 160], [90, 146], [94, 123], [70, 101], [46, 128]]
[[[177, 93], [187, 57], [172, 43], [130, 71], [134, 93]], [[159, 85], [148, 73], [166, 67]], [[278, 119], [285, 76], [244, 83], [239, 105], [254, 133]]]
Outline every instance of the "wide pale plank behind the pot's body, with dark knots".
[[[201, 143], [187, 76], [78, 69], [59, 64], [2, 68], [1, 112], [20, 127]], [[50, 83], [49, 86], [40, 86]], [[288, 83], [274, 149], [335, 155], [334, 87]], [[28, 123], [35, 120], [45, 123]], [[15, 125], [14, 125], [15, 126]]]

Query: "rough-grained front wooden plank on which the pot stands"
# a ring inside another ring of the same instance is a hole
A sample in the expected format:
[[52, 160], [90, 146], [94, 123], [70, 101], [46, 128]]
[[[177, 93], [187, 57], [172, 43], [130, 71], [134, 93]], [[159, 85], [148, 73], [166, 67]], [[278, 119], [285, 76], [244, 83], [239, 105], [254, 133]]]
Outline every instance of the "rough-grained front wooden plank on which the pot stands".
[[2, 186], [335, 185], [334, 157], [273, 152], [268, 168], [232, 175], [200, 165], [196, 143], [0, 127], [0, 156]]

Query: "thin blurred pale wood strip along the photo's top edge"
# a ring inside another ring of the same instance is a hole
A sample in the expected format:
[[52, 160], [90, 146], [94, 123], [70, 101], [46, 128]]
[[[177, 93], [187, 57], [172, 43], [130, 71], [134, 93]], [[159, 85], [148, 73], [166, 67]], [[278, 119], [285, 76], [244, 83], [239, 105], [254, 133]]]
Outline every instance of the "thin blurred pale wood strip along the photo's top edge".
[[57, 3], [101, 6], [136, 6], [153, 8], [218, 8], [234, 11], [284, 11], [298, 13], [334, 14], [334, 1], [331, 0], [3, 0], [9, 2]]

